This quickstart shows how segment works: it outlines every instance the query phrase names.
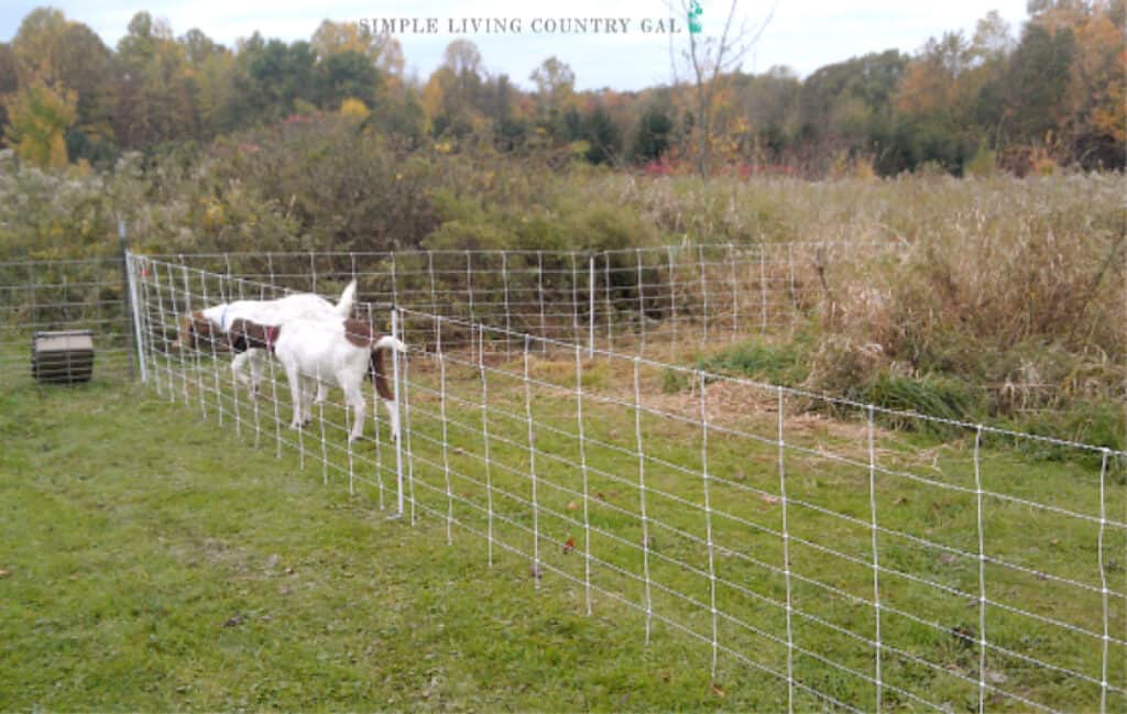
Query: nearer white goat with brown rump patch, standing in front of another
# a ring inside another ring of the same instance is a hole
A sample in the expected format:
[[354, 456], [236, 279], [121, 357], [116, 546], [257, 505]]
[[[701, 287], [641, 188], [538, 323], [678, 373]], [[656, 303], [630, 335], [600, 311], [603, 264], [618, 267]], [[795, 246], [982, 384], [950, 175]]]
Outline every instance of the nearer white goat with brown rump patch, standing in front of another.
[[375, 381], [376, 392], [388, 409], [391, 438], [399, 438], [399, 412], [388, 387], [383, 369], [383, 350], [407, 351], [407, 346], [393, 337], [375, 334], [360, 320], [286, 320], [281, 325], [264, 325], [249, 320], [236, 320], [230, 328], [231, 349], [245, 351], [265, 349], [285, 367], [293, 398], [291, 429], [300, 429], [312, 418], [312, 383], [323, 387], [328, 380], [344, 390], [345, 402], [353, 408], [354, 421], [348, 440], [364, 432], [366, 401], [361, 390], [364, 375]]

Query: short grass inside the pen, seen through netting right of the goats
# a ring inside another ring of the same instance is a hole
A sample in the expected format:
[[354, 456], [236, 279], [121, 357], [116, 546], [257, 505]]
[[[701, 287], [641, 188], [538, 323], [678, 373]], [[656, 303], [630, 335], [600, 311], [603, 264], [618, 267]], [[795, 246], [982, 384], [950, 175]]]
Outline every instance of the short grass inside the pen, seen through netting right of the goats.
[[[582, 559], [562, 554], [559, 545], [569, 538], [577, 547], [583, 545], [584, 516], [578, 508], [583, 501], [579, 494], [583, 473], [577, 464], [585, 456], [592, 551], [603, 561], [596, 563], [593, 580], [625, 595], [633, 603], [644, 603], [639, 581], [644, 563], [637, 546], [642, 537], [640, 508], [638, 490], [632, 485], [638, 478], [638, 466], [637, 458], [629, 453], [636, 439], [633, 410], [621, 404], [629, 404], [632, 390], [629, 359], [622, 363], [596, 362], [585, 367], [585, 378], [588, 374], [597, 375], [596, 381], [609, 386], [594, 390], [584, 401], [586, 436], [603, 444], [588, 441], [584, 453], [574, 438], [577, 430], [574, 393], [567, 392], [574, 385], [574, 363], [566, 359], [533, 362], [534, 377], [559, 385], [559, 389], [533, 386], [531, 390], [532, 412], [538, 423], [539, 512], [535, 516], [543, 561], [582, 579]], [[520, 372], [518, 364], [500, 368]], [[436, 381], [441, 377], [433, 367], [427, 369], [420, 365], [415, 369], [412, 383], [438, 386]], [[667, 384], [668, 372], [645, 369], [641, 378], [642, 393], [650, 403], [649, 395], [660, 394]], [[490, 373], [488, 380], [491, 394], [489, 432], [494, 435], [490, 440], [491, 485], [515, 496], [495, 496], [495, 512], [506, 517], [503, 523], [495, 524], [495, 536], [514, 545], [526, 544], [531, 542], [533, 509], [527, 503], [531, 489], [524, 475], [530, 464], [523, 448], [526, 425], [522, 385], [520, 380], [503, 373]], [[618, 385], [618, 392], [611, 385]], [[779, 455], [773, 441], [778, 423], [773, 413], [774, 392], [767, 390], [765, 395], [756, 394], [754, 389], [739, 390], [728, 383], [713, 383], [709, 389], [712, 432], [708, 464], [712, 475], [711, 529], [717, 545], [716, 605], [722, 615], [731, 616], [721, 616], [719, 640], [722, 646], [763, 667], [786, 671], [786, 648], [780, 641], [786, 641], [787, 636], [783, 608], [787, 583], [781, 573], [784, 561], [778, 536], [781, 506], [778, 498]], [[426, 484], [416, 488], [419, 502], [432, 512], [446, 512], [450, 501], [445, 496], [445, 463], [449, 461], [454, 517], [485, 530], [488, 499], [481, 458], [485, 444], [478, 426], [479, 410], [472, 408], [480, 399], [479, 391], [480, 383], [473, 371], [453, 364], [447, 367], [444, 439], [440, 400], [433, 393], [416, 390], [411, 398], [412, 456], [415, 479]], [[600, 403], [600, 396], [610, 396], [620, 403]], [[666, 395], [659, 400], [662, 409], [669, 413], [687, 419], [699, 413], [695, 395]], [[875, 673], [872, 649], [842, 632], [871, 640], [876, 628], [872, 606], [866, 604], [872, 593], [867, 432], [863, 426], [854, 422], [802, 416], [796, 407], [787, 405], [787, 412], [795, 416], [788, 417], [784, 425], [789, 446], [784, 470], [788, 497], [792, 499], [789, 509], [791, 597], [801, 613], [791, 623], [796, 646], [800, 648], [796, 649], [795, 675], [818, 691], [871, 709], [876, 693], [866, 677]], [[721, 429], [740, 430], [747, 436], [725, 434]], [[649, 456], [687, 470], [663, 466], [657, 461], [646, 465], [648, 516], [655, 524], [676, 529], [650, 526], [650, 537], [656, 541], [651, 548], [650, 574], [668, 590], [695, 600], [689, 603], [667, 590], [655, 590], [654, 608], [708, 639], [711, 636], [708, 616], [711, 592], [709, 579], [700, 572], [708, 569], [708, 551], [703, 545], [707, 524], [701, 509], [702, 481], [700, 475], [693, 475], [701, 468], [701, 429], [645, 414], [641, 430]], [[884, 528], [902, 534], [881, 533], [878, 538], [881, 564], [888, 569], [881, 572], [880, 582], [881, 603], [887, 608], [881, 622], [881, 639], [889, 648], [882, 661], [885, 706], [919, 708], [920, 704], [912, 700], [911, 695], [915, 695], [929, 702], [951, 702], [956, 708], [975, 709], [978, 696], [974, 686], [978, 669], [975, 644], [978, 568], [973, 436], [940, 441], [931, 435], [905, 435], [878, 428], [875, 437], [877, 459], [890, 472], [878, 474], [879, 521]], [[449, 447], [443, 449], [445, 440]], [[997, 448], [984, 449], [980, 454], [985, 490], [1075, 512], [1099, 514], [1098, 471], [1093, 472], [1084, 463], [1038, 462], [1005, 448], [1003, 441], [1000, 439]], [[845, 463], [843, 458], [853, 463]], [[928, 479], [930, 483], [893, 475], [904, 473]], [[952, 491], [942, 488], [944, 485], [964, 490]], [[1127, 501], [1122, 488], [1111, 481], [1107, 503], [1109, 518], [1121, 523]], [[1112, 512], [1118, 515], [1111, 516]], [[1100, 598], [1093, 591], [1099, 587], [1095, 524], [992, 497], [984, 499], [983, 520], [986, 551], [992, 557], [1044, 573], [988, 563], [985, 577], [992, 601], [1090, 633], [1102, 632]], [[1121, 529], [1106, 535], [1104, 557], [1122, 552], [1124, 535]], [[905, 536], [942, 547], [921, 546]], [[1107, 572], [1109, 582], [1118, 578], [1121, 583], [1121, 559], [1109, 563]], [[923, 584], [920, 579], [934, 584]], [[1063, 580], [1085, 583], [1088, 589]], [[1121, 591], [1121, 584], [1112, 587]], [[896, 614], [894, 608], [938, 627]], [[1127, 622], [1122, 600], [1112, 600], [1111, 610], [1109, 626], [1112, 631], [1121, 631]], [[1003, 690], [1059, 708], [1098, 707], [1098, 686], [1070, 681], [1067, 677], [1057, 677], [1051, 670], [1020, 659], [1021, 655], [1033, 657], [1098, 679], [1098, 639], [996, 606], [988, 608], [987, 637], [992, 644], [1014, 653], [992, 650], [987, 654], [987, 677]], [[891, 648], [900, 654], [891, 654]], [[1120, 672], [1119, 681], [1124, 680], [1125, 654], [1121, 645], [1112, 644], [1109, 668]], [[934, 667], [913, 662], [908, 655], [928, 660]], [[852, 672], [826, 664], [818, 658], [833, 660]], [[1046, 673], [1053, 676], [1046, 677]], [[770, 677], [763, 676], [753, 679], [770, 681]], [[1121, 697], [1117, 696], [1112, 693], [1111, 698], [1121, 703]], [[988, 698], [999, 705], [1010, 702], [1010, 706], [1028, 706], [995, 693], [988, 693]], [[802, 693], [798, 693], [796, 702], [801, 703], [799, 708], [820, 704]]]

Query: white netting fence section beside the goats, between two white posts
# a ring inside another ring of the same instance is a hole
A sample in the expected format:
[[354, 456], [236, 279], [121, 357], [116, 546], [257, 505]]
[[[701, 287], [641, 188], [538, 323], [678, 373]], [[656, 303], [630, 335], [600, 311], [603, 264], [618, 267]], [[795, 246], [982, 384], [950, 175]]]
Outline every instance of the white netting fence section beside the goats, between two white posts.
[[[398, 473], [397, 441], [390, 438], [390, 427], [380, 412], [371, 413], [369, 440], [353, 444], [347, 438], [353, 428], [348, 405], [338, 393], [329, 393], [329, 399], [313, 405], [312, 427], [292, 429], [295, 404], [276, 360], [258, 354], [251, 364], [239, 365], [231, 359], [236, 355], [227, 333], [218, 329], [189, 332], [195, 329], [192, 315], [199, 309], [276, 300], [286, 295], [286, 288], [139, 256], [131, 257], [130, 270], [136, 295], [140, 371], [159, 396], [181, 402], [197, 410], [201, 418], [233, 429], [256, 448], [276, 455], [293, 449], [301, 467], [319, 468], [326, 482], [346, 479], [353, 492], [374, 489], [373, 499], [381, 509], [385, 507], [387, 479]], [[389, 311], [378, 312], [364, 304], [356, 312], [373, 331], [388, 331]], [[374, 386], [370, 389], [371, 399], [376, 401]]]

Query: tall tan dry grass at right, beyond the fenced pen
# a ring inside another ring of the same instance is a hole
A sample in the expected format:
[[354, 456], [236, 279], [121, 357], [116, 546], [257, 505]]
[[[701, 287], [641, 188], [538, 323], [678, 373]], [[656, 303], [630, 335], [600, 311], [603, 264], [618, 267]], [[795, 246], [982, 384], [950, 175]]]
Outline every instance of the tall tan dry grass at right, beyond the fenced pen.
[[1125, 440], [1122, 176], [604, 180], [597, 190], [690, 240], [886, 248], [806, 267], [819, 286], [806, 386], [876, 399], [878, 384], [915, 380], [993, 416], [1118, 412]]

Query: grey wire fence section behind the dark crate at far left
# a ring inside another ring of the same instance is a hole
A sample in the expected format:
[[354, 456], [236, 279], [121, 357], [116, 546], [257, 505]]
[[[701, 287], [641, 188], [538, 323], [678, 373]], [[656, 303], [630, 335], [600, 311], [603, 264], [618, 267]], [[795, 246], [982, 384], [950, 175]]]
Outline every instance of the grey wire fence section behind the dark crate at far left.
[[[90, 332], [92, 380], [125, 380], [135, 352], [122, 258], [24, 260], [0, 262], [0, 389], [33, 383], [80, 383], [80, 374], [62, 352], [55, 366], [33, 365], [37, 333]], [[82, 357], [81, 359], [85, 359]]]

